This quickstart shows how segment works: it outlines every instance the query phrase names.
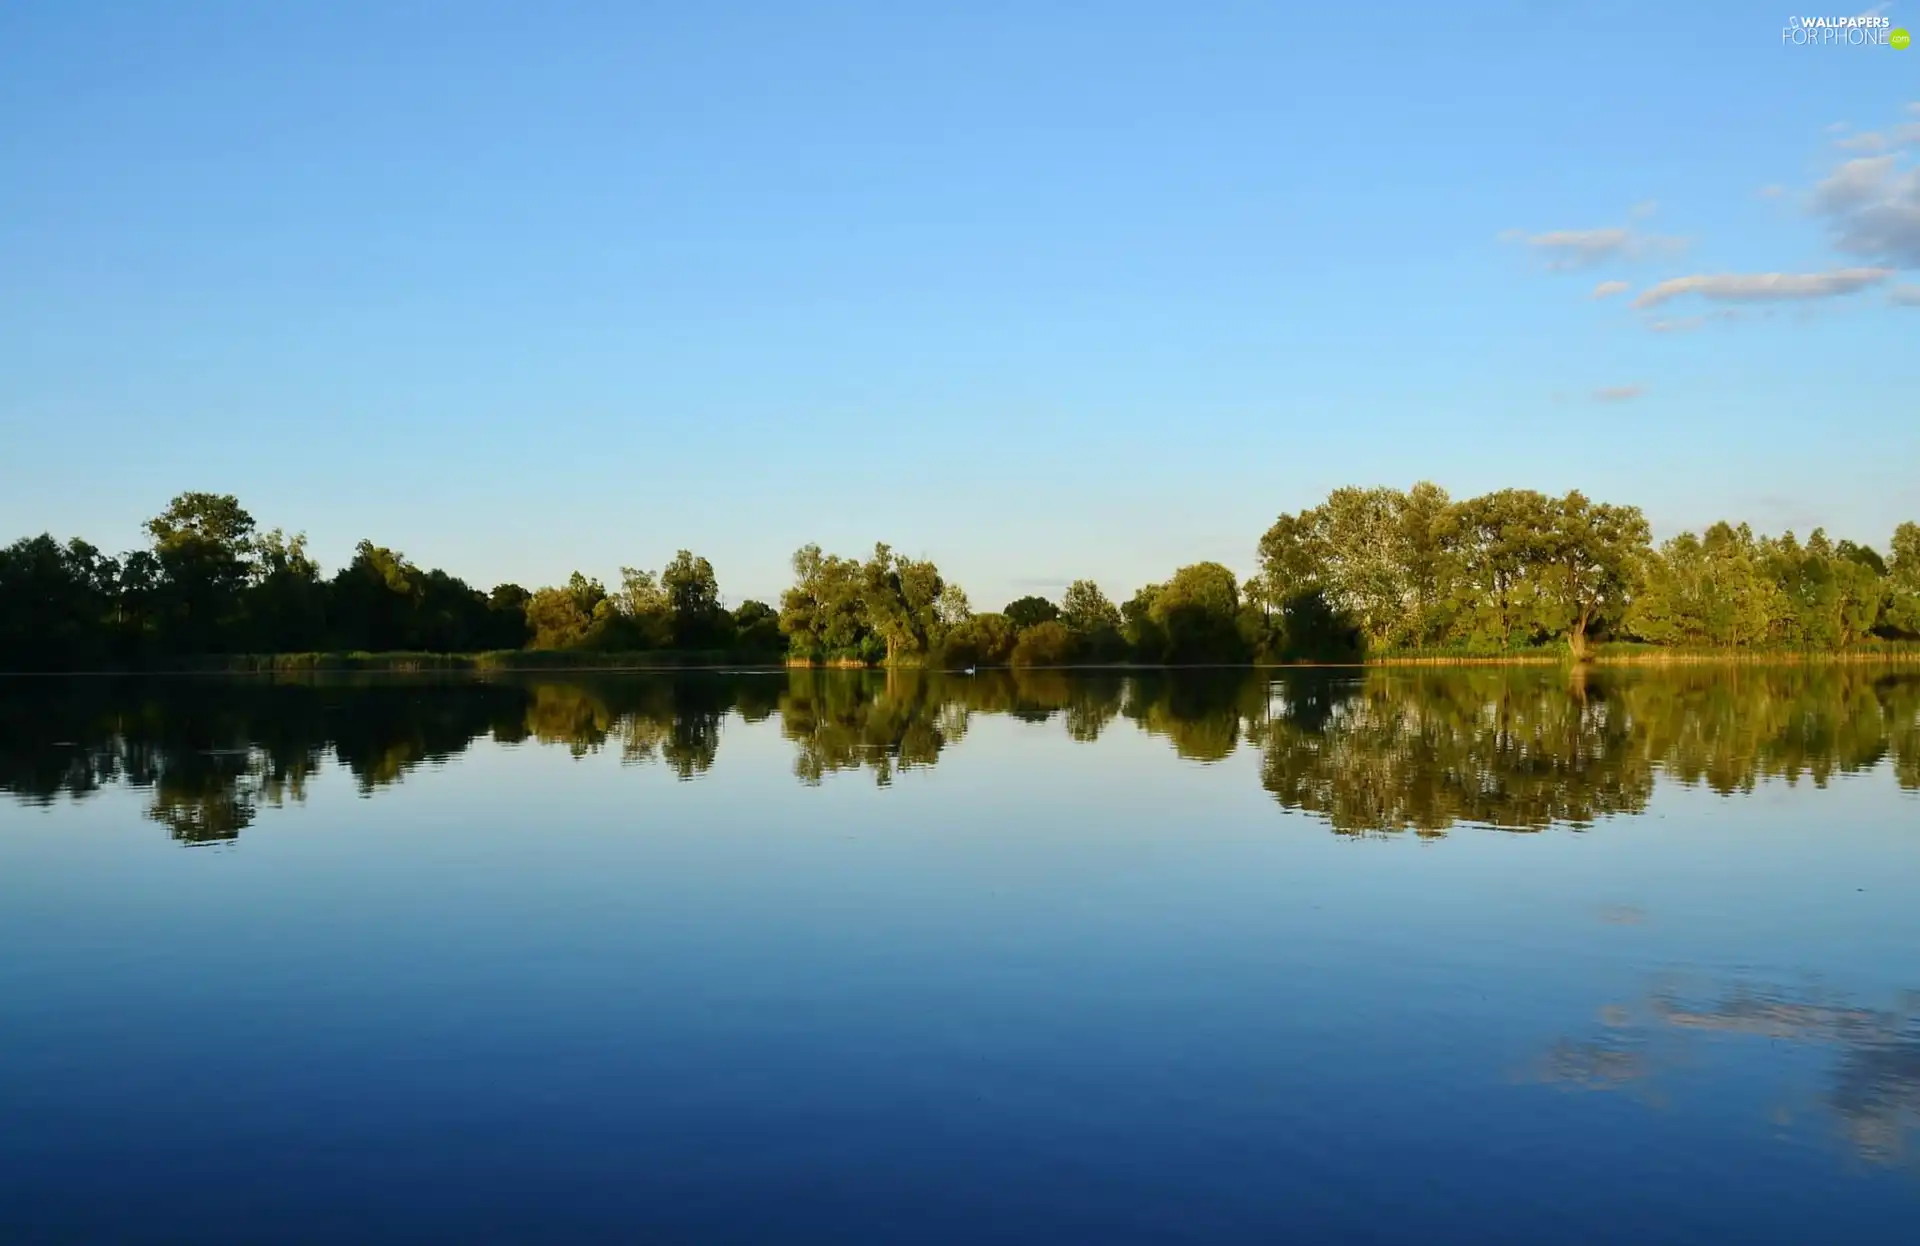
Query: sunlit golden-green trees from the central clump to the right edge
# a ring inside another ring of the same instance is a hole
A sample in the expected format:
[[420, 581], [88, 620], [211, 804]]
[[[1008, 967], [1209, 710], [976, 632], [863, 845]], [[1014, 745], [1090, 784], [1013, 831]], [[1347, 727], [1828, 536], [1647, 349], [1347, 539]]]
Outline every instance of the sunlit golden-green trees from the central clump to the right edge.
[[1342, 488], [1281, 515], [1238, 580], [1194, 563], [1116, 605], [1091, 580], [973, 612], [937, 566], [876, 545], [866, 561], [806, 545], [780, 628], [814, 662], [1354, 660], [1505, 655], [1597, 641], [1711, 649], [1847, 649], [1920, 639], [1920, 524], [1889, 555], [1814, 530], [1757, 538], [1715, 524], [1653, 545], [1638, 507], [1434, 484]]

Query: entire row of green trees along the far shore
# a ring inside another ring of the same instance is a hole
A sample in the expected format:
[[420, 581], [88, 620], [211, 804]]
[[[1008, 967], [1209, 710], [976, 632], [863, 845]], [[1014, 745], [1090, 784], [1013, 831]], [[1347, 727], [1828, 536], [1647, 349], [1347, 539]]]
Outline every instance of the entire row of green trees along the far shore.
[[774, 609], [728, 607], [712, 564], [685, 549], [659, 572], [622, 568], [612, 587], [572, 572], [480, 589], [372, 541], [324, 576], [303, 536], [261, 532], [219, 493], [175, 497], [146, 536], [121, 557], [46, 534], [0, 549], [0, 668], [524, 649], [1031, 668], [1920, 639], [1920, 524], [1895, 528], [1885, 555], [1726, 522], [1655, 545], [1638, 507], [1578, 491], [1342, 488], [1281, 515], [1246, 580], [1194, 563], [1117, 605], [1075, 580], [1058, 601], [1000, 611], [973, 611], [939, 566], [885, 543], [864, 559], [801, 547]]

